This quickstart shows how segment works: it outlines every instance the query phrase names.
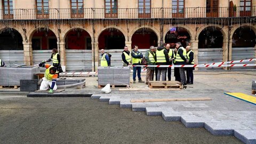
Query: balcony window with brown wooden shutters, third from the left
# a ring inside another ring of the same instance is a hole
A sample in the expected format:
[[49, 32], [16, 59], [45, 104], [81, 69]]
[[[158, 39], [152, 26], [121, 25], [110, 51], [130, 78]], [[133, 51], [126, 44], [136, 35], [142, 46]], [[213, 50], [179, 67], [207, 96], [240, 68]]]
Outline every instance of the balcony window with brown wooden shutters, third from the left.
[[84, 18], [83, 0], [71, 0], [71, 18]]

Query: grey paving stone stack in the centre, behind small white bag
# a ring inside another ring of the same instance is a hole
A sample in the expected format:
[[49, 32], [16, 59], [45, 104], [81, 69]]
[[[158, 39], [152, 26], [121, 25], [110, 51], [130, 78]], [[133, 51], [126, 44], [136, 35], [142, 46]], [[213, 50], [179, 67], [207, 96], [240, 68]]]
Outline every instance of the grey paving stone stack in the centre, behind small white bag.
[[130, 67], [99, 67], [99, 85], [130, 85]]

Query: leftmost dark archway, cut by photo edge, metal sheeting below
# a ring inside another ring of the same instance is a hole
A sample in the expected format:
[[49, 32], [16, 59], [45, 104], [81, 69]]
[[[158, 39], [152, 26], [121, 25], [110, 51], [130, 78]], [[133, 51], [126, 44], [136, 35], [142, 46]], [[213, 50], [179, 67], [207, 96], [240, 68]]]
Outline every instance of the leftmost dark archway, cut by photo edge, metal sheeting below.
[[24, 54], [21, 34], [13, 28], [0, 31], [0, 58], [7, 67], [24, 65]]

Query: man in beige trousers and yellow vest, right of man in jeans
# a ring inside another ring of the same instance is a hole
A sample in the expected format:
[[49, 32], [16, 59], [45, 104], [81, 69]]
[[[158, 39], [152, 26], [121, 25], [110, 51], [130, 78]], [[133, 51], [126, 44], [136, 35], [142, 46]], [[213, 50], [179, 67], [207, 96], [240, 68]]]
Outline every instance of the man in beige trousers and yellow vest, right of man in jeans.
[[[154, 53], [155, 47], [150, 46], [149, 50], [145, 53], [145, 59], [148, 62], [147, 65], [155, 65], [156, 64], [156, 54]], [[146, 74], [146, 84], [148, 81], [153, 81], [155, 67], [147, 67], [147, 74]]]

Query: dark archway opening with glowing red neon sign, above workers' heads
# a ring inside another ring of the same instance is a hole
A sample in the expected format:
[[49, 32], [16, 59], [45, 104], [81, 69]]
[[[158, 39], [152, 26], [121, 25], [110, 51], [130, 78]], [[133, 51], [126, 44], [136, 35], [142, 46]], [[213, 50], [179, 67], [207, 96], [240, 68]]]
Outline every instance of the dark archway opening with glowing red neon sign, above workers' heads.
[[167, 32], [164, 38], [165, 43], [170, 44], [170, 49], [175, 48], [175, 43], [180, 42], [183, 47], [186, 48], [187, 44], [190, 42], [190, 35], [187, 29], [182, 27], [172, 27]]

